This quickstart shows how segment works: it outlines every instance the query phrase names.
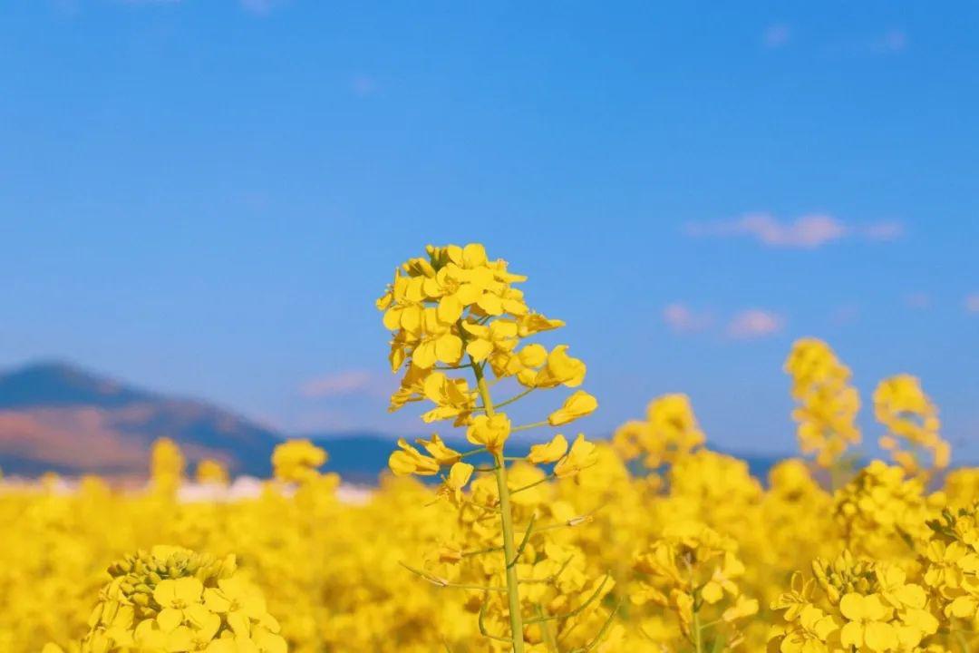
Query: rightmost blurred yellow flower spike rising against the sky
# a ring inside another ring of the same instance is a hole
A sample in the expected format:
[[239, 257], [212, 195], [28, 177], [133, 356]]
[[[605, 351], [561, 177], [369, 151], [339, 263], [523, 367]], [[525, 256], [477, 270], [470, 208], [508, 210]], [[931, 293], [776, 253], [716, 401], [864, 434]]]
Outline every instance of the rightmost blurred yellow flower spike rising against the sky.
[[881, 381], [873, 393], [873, 410], [888, 431], [880, 446], [909, 474], [949, 466], [952, 447], [939, 435], [938, 408], [917, 378], [899, 374]]

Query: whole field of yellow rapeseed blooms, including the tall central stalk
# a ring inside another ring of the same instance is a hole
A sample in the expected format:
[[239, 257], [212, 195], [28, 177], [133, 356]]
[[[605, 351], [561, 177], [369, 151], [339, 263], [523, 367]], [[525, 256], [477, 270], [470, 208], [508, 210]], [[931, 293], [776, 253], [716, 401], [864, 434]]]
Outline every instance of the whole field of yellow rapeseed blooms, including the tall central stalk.
[[[563, 323], [524, 281], [479, 245], [397, 269], [392, 409], [442, 436], [397, 443], [365, 501], [303, 441], [256, 497], [180, 500], [168, 441], [143, 491], [0, 491], [0, 651], [979, 651], [979, 470], [945, 471], [917, 379], [878, 385], [889, 460], [862, 467], [861, 398], [815, 339], [785, 364], [801, 456], [768, 479], [710, 450], [681, 395], [610, 442], [565, 437], [598, 399], [568, 346], [537, 342]], [[530, 395], [549, 412], [512, 423]], [[535, 445], [509, 455], [520, 432]]]

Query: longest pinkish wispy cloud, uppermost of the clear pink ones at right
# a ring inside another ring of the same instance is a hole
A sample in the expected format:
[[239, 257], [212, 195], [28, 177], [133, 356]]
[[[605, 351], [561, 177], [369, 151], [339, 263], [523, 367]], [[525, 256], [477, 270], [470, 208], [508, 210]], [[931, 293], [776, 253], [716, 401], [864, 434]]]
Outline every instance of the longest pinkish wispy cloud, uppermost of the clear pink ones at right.
[[684, 227], [695, 238], [748, 237], [773, 248], [815, 250], [843, 238], [857, 236], [871, 241], [891, 241], [904, 233], [898, 222], [850, 226], [826, 213], [802, 215], [782, 221], [771, 213], [748, 213], [731, 220], [691, 222]]

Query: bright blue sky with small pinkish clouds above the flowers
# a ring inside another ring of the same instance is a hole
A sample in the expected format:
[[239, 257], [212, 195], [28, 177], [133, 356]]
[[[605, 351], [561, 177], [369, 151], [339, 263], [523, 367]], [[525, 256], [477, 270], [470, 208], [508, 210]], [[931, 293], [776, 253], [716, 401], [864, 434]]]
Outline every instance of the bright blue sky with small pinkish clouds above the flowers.
[[[417, 430], [373, 300], [482, 241], [608, 432], [685, 392], [794, 446], [781, 363], [912, 372], [979, 459], [979, 5], [10, 0], [0, 365]], [[865, 435], [879, 434], [864, 409]]]

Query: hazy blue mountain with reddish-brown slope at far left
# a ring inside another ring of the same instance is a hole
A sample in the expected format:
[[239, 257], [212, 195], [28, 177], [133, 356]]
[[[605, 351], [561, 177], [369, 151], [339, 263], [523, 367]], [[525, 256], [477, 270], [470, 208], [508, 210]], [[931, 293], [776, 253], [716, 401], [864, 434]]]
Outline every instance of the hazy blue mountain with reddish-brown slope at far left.
[[169, 437], [191, 463], [211, 457], [266, 476], [284, 436], [204, 401], [163, 396], [63, 362], [0, 374], [0, 469], [34, 476], [143, 476]]

